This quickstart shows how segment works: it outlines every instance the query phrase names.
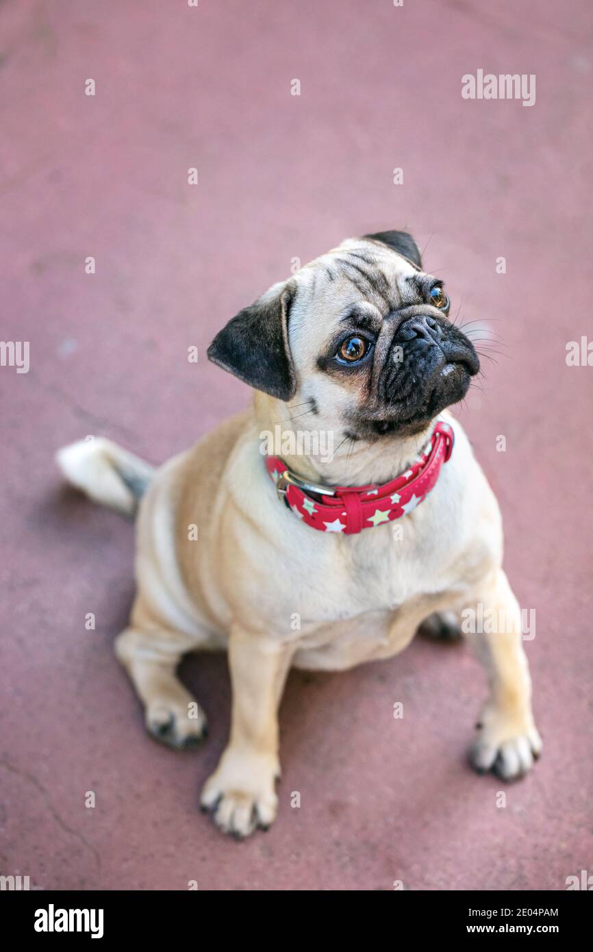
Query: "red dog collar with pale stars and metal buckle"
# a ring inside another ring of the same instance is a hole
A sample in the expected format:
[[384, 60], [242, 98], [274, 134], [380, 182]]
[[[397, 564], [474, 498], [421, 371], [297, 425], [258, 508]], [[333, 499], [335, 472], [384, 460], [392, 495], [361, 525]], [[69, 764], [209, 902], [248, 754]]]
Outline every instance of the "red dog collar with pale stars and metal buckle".
[[267, 456], [266, 468], [297, 519], [322, 532], [352, 535], [362, 529], [400, 519], [435, 486], [441, 466], [453, 450], [454, 434], [448, 423], [439, 422], [430, 446], [405, 473], [383, 486], [319, 486], [300, 479], [287, 469], [279, 456]]

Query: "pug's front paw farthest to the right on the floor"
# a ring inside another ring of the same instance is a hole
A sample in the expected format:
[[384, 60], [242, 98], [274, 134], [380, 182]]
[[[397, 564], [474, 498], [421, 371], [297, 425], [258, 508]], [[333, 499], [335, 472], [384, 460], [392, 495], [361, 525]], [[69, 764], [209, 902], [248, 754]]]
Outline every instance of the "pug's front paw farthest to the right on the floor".
[[502, 780], [518, 780], [531, 769], [542, 753], [542, 738], [530, 717], [522, 721], [484, 712], [480, 736], [469, 750], [474, 770], [493, 770]]

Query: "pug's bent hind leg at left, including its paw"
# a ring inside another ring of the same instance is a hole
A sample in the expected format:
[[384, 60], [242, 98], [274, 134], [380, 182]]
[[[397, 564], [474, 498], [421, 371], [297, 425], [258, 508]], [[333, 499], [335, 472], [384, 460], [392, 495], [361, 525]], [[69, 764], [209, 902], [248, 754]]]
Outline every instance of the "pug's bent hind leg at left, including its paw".
[[115, 654], [145, 705], [148, 733], [177, 750], [206, 736], [206, 715], [179, 681], [175, 669], [195, 642], [163, 628], [130, 627], [115, 640]]

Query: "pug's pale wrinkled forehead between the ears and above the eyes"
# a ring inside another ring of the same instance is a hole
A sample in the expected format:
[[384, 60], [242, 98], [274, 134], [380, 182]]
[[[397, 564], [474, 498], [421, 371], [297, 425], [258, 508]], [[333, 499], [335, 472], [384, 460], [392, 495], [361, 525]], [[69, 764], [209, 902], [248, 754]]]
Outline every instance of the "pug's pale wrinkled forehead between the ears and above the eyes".
[[290, 338], [303, 333], [321, 342], [352, 307], [382, 317], [414, 304], [425, 272], [380, 242], [348, 238], [297, 272]]

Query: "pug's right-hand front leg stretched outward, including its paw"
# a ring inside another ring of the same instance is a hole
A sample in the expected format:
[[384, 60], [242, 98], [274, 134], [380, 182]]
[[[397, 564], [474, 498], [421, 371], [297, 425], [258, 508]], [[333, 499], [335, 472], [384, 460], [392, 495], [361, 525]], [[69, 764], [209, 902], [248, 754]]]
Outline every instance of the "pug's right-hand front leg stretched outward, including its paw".
[[[542, 740], [531, 712], [521, 610], [502, 569], [480, 590], [479, 603], [484, 610], [481, 627], [486, 630], [466, 635], [486, 669], [490, 698], [478, 725], [480, 735], [470, 750], [470, 763], [480, 773], [493, 769], [504, 780], [513, 780], [532, 766]], [[476, 611], [477, 605], [467, 607]], [[464, 622], [462, 630], [465, 627], [474, 625]]]

